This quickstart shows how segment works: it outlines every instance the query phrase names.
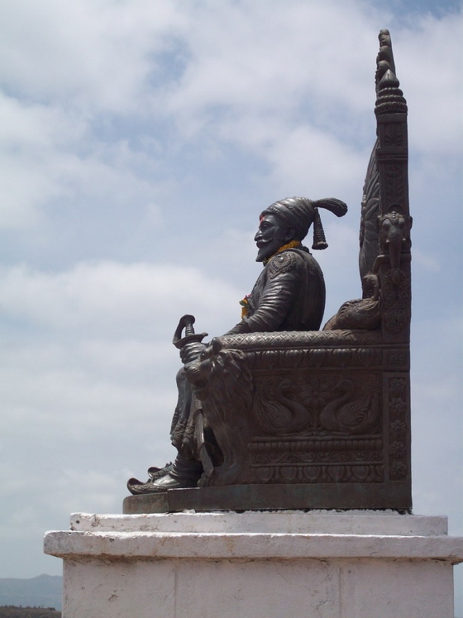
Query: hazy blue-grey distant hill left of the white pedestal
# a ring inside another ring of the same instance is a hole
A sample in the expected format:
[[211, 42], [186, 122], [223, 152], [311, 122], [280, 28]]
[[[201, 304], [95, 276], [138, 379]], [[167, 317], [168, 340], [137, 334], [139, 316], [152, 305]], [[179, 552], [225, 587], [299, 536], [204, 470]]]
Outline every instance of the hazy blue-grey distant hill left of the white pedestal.
[[[31, 579], [0, 579], [0, 606], [26, 608], [62, 608], [63, 578], [59, 575], [39, 575]], [[49, 614], [53, 616], [53, 614]], [[0, 618], [3, 615], [0, 614]], [[8, 614], [5, 614], [8, 616]], [[23, 614], [23, 616], [26, 616]], [[39, 615], [30, 614], [34, 618]]]

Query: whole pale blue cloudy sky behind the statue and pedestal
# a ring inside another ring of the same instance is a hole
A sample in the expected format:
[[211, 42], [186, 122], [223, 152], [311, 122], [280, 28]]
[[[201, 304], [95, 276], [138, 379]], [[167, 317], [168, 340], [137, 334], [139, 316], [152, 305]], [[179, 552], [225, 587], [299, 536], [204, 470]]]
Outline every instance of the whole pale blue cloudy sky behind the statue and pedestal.
[[236, 324], [266, 205], [346, 201], [325, 319], [359, 296], [381, 28], [410, 114], [414, 512], [463, 534], [462, 3], [3, 0], [0, 577], [59, 574], [44, 531], [175, 456], [173, 331]]

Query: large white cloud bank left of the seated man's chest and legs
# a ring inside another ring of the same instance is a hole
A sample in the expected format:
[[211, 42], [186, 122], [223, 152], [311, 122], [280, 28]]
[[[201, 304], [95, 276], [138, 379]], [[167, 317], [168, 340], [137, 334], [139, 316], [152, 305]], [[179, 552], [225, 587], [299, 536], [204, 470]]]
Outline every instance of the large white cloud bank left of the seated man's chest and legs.
[[94, 509], [119, 510], [129, 476], [173, 457], [178, 319], [192, 311], [198, 332], [220, 334], [238, 292], [192, 268], [107, 262], [3, 268], [0, 288], [3, 491], [20, 503], [21, 487], [31, 496], [46, 483], [60, 516], [93, 498]]

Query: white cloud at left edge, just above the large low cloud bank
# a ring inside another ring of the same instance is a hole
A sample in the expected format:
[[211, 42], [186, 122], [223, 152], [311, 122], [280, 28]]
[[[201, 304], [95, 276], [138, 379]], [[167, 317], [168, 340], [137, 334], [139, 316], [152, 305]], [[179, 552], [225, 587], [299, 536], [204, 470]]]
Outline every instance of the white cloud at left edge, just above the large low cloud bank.
[[150, 224], [162, 225], [160, 209], [154, 217], [152, 207], [162, 182], [140, 171], [156, 167], [146, 154], [124, 140], [98, 142], [86, 120], [53, 106], [0, 95], [0, 113], [1, 227], [46, 227], [46, 215], [69, 203], [79, 204], [80, 217], [95, 203], [108, 212], [151, 207]]

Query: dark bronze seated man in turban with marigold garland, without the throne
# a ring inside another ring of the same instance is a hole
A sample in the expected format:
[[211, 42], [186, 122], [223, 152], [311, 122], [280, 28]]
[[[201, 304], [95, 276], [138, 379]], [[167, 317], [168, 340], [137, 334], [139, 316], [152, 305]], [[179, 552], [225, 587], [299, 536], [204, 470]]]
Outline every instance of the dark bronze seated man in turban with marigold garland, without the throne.
[[[282, 330], [319, 330], [325, 309], [325, 282], [319, 263], [302, 244], [314, 225], [312, 249], [325, 249], [319, 208], [343, 216], [345, 203], [334, 198], [309, 200], [287, 198], [266, 208], [259, 218], [254, 241], [258, 247], [256, 261], [263, 263], [251, 294], [241, 301], [242, 319], [226, 333], [270, 333]], [[205, 344], [186, 344], [180, 355], [187, 365], [194, 362]], [[149, 480], [142, 483], [131, 478], [127, 487], [132, 494], [152, 494], [179, 487], [196, 487], [202, 476], [202, 462], [195, 438], [196, 402], [186, 378], [185, 368], [177, 375], [178, 404], [171, 424], [171, 440], [178, 453], [173, 465], [150, 468]], [[208, 450], [214, 453], [214, 436], [209, 435]]]

